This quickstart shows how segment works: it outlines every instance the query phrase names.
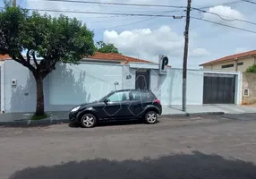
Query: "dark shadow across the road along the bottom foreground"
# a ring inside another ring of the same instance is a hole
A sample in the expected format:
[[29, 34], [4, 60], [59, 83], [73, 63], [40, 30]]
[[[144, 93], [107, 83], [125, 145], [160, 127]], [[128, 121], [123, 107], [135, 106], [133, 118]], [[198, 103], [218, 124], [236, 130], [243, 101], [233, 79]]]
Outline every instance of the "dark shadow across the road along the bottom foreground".
[[38, 166], [16, 172], [11, 179], [101, 179], [101, 178], [256, 178], [256, 166], [199, 151], [157, 159], [110, 161], [107, 159], [68, 162], [56, 166]]

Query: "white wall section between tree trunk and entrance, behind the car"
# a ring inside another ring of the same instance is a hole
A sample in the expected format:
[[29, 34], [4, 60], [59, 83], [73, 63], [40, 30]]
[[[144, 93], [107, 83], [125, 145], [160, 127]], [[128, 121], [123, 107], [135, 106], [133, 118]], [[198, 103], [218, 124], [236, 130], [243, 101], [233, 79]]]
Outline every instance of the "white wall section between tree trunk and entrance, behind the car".
[[122, 65], [57, 64], [49, 75], [50, 105], [77, 105], [104, 97], [123, 87]]

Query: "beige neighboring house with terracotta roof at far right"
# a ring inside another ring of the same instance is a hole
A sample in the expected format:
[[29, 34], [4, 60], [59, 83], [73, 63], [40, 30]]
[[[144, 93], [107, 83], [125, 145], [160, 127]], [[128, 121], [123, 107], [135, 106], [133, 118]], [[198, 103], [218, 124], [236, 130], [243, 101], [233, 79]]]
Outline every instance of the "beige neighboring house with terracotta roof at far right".
[[203, 69], [226, 72], [245, 72], [249, 66], [256, 64], [256, 50], [228, 55], [217, 60], [201, 64]]

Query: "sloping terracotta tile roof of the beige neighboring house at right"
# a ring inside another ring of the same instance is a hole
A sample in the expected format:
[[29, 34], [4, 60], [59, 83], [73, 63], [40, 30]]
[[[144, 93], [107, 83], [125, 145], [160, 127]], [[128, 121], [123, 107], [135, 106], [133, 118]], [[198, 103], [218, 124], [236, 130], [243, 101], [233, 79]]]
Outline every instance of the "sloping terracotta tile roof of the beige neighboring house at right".
[[256, 55], [256, 50], [243, 52], [243, 53], [235, 54], [235, 55], [228, 55], [228, 56], [219, 58], [217, 60], [207, 62], [205, 64], [200, 64], [200, 66], [209, 65], [209, 64], [218, 64], [218, 63], [221, 63], [221, 62], [226, 62], [226, 61], [229, 61], [229, 60], [233, 60], [235, 58], [241, 58], [241, 57], [250, 56], [250, 55]]

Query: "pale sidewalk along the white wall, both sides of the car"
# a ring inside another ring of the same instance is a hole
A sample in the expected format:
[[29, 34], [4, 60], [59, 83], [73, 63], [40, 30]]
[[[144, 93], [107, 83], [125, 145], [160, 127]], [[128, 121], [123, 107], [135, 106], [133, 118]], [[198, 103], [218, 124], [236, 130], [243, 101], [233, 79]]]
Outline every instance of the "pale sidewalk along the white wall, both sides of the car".
[[[69, 123], [68, 111], [47, 112], [49, 117], [44, 120], [31, 121], [32, 113], [5, 113], [0, 115], [0, 125], [8, 124], [59, 124]], [[163, 116], [184, 115], [221, 115], [221, 114], [251, 114], [256, 113], [256, 107], [235, 105], [187, 106], [187, 112], [181, 106], [163, 107]]]

